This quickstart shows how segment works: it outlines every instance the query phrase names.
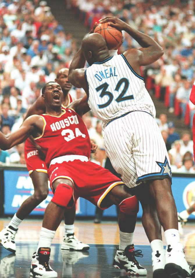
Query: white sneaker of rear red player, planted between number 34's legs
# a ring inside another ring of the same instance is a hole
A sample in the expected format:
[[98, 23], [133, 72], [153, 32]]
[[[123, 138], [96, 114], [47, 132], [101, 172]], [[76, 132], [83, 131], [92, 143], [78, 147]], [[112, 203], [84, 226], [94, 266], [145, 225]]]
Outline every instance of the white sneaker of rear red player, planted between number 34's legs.
[[63, 242], [61, 245], [62, 250], [75, 250], [75, 251], [86, 251], [89, 250], [89, 245], [79, 241], [74, 234], [67, 234], [63, 237]]

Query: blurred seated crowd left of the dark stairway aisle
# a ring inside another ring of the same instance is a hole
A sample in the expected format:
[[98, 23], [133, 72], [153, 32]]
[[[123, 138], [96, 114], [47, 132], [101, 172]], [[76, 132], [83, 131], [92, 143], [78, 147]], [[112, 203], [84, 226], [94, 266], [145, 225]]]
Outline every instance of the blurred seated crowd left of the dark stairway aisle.
[[[60, 68], [69, 67], [77, 51], [46, 1], [0, 1], [0, 128], [7, 135], [22, 124], [42, 86], [54, 81]], [[82, 97], [72, 89], [74, 98]], [[0, 162], [22, 163], [24, 143], [0, 150]]]

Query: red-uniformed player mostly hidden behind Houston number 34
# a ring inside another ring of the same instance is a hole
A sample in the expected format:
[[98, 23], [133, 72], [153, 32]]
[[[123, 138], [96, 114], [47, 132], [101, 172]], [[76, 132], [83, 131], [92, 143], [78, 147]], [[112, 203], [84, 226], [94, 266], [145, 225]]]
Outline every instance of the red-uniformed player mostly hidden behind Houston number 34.
[[[66, 108], [72, 101], [69, 90], [71, 89], [71, 83], [68, 82], [68, 69], [62, 68], [58, 71], [56, 82], [60, 84], [63, 92], [62, 108]], [[45, 112], [45, 103], [42, 97], [39, 97], [37, 101], [29, 108], [26, 118], [35, 115], [43, 114]], [[29, 175], [33, 181], [34, 193], [28, 197], [20, 206], [19, 210], [11, 219], [8, 226], [0, 233], [0, 239], [3, 247], [11, 252], [16, 252], [15, 234], [18, 230], [19, 224], [24, 218], [26, 218], [31, 211], [36, 208], [48, 195], [48, 175], [47, 166], [40, 157], [41, 150], [37, 150], [35, 143], [30, 138], [25, 141], [25, 160], [26, 167]], [[75, 206], [71, 209], [65, 210], [65, 231], [63, 242], [61, 245], [62, 250], [88, 250], [89, 245], [84, 244], [74, 236], [74, 219], [75, 219]], [[6, 234], [6, 237], [3, 235]]]

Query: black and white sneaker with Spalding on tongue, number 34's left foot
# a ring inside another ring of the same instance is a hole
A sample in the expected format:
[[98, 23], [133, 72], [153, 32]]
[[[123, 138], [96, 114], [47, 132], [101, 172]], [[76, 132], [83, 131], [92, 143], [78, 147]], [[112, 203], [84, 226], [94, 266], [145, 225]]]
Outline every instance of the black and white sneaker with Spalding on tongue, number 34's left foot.
[[56, 278], [58, 274], [49, 265], [51, 249], [40, 247], [38, 252], [33, 254], [31, 261], [30, 275], [36, 278]]

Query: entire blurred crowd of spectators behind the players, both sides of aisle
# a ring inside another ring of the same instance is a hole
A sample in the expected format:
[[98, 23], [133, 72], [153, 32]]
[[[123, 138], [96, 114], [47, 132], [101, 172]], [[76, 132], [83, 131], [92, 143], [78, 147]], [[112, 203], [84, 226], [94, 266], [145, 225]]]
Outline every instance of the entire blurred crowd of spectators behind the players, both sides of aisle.
[[[117, 16], [164, 48], [163, 57], [141, 71], [152, 98], [164, 107], [157, 122], [172, 172], [195, 173], [191, 138], [195, 106], [189, 102], [195, 79], [194, 1], [67, 0], [65, 5], [88, 29], [104, 16]], [[139, 48], [128, 34], [124, 32], [123, 36], [118, 53]], [[28, 107], [40, 96], [42, 86], [53, 81], [60, 68], [69, 67], [78, 47], [74, 34], [65, 31], [46, 1], [0, 1], [0, 127], [5, 135], [17, 130]], [[84, 92], [72, 88], [70, 94], [77, 99]], [[189, 132], [176, 132], [176, 117], [183, 119]], [[101, 122], [91, 112], [83, 119], [90, 138], [99, 146], [92, 160], [104, 166]], [[25, 164], [24, 144], [1, 150], [0, 161]]]

